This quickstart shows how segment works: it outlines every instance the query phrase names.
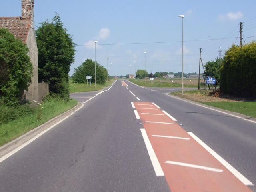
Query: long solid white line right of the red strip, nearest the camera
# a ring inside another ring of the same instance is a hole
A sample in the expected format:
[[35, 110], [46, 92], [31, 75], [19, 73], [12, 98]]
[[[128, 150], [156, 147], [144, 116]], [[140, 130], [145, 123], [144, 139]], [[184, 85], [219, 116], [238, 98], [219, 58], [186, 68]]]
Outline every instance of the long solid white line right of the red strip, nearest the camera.
[[238, 178], [245, 185], [254, 185], [245, 176], [243, 176], [238, 170], [236, 170], [232, 165], [230, 165], [226, 160], [224, 160], [220, 155], [218, 155], [214, 150], [212, 150], [208, 145], [206, 145], [202, 140], [200, 140], [192, 132], [188, 132], [194, 140], [196, 140], [203, 148], [205, 148], [212, 156], [214, 156], [222, 165], [224, 165], [236, 178]]

